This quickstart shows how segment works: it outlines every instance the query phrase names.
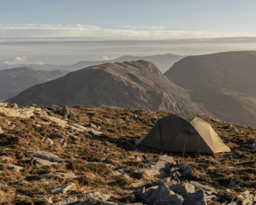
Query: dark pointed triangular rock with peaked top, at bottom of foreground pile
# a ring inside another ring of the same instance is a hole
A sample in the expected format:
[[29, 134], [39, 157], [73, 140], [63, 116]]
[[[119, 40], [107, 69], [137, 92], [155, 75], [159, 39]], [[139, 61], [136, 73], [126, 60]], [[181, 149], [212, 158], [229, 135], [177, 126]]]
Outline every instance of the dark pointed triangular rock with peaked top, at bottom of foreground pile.
[[175, 194], [175, 193], [170, 191], [164, 182], [161, 182], [157, 187], [157, 189], [155, 189], [154, 192], [149, 197], [147, 197], [147, 199], [145, 199], [144, 201], [147, 202], [148, 205], [153, 205], [155, 201], [159, 199], [163, 199], [164, 197], [167, 197], [171, 194]]

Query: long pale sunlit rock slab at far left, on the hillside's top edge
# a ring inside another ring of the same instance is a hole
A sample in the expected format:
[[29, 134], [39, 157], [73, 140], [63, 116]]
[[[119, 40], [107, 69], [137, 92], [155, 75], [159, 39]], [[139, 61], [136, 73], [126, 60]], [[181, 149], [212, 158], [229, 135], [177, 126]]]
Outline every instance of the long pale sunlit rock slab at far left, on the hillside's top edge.
[[8, 115], [9, 117], [19, 117], [19, 118], [30, 118], [34, 116], [34, 108], [26, 108], [26, 109], [9, 109], [0, 107], [0, 112]]

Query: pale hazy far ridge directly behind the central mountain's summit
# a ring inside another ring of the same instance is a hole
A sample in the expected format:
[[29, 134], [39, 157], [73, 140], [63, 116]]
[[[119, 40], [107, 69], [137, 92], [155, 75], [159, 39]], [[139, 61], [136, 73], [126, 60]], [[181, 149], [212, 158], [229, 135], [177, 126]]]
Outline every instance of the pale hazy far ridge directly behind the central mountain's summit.
[[154, 63], [158, 69], [164, 73], [165, 71], [168, 70], [172, 64], [175, 62], [178, 62], [179, 60], [183, 59], [185, 56], [178, 56], [174, 54], [164, 54], [164, 55], [155, 55], [155, 56], [121, 56], [118, 57], [117, 59], [114, 60], [103, 60], [103, 61], [81, 61], [76, 64], [73, 64], [71, 66], [64, 66], [64, 67], [59, 67], [59, 69], [62, 70], [79, 70], [79, 69], [84, 69], [85, 67], [88, 66], [96, 66], [99, 64], [104, 64], [104, 63], [122, 63], [122, 62], [131, 62], [131, 61], [136, 61], [136, 60], [147, 60], [151, 63]]

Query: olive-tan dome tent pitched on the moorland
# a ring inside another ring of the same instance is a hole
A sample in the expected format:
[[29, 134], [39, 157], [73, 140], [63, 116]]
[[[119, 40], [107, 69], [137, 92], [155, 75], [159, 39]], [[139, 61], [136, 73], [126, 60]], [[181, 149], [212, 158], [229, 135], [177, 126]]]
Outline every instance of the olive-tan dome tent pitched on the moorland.
[[202, 152], [215, 155], [230, 152], [211, 125], [193, 115], [170, 115], [157, 123], [136, 145], [149, 146], [162, 151]]

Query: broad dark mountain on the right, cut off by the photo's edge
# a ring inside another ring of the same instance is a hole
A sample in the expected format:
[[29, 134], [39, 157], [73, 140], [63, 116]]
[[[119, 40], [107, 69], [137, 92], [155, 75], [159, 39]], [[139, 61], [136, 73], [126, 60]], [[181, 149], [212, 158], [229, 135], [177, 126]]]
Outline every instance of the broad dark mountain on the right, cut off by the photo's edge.
[[211, 116], [256, 127], [255, 51], [188, 56], [165, 76], [191, 90], [191, 100], [204, 104]]

